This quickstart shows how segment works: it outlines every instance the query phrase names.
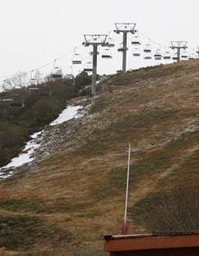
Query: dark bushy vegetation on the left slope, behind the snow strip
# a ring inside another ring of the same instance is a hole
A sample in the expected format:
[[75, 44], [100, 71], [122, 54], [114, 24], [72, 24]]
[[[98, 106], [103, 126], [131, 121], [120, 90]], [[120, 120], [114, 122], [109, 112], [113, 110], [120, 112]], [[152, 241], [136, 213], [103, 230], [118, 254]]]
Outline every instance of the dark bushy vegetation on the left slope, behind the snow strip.
[[[0, 167], [20, 153], [31, 134], [41, 131], [51, 123], [67, 101], [79, 95], [82, 86], [90, 84], [88, 74], [75, 79], [52, 80], [37, 87], [37, 94], [30, 94], [29, 86], [9, 90], [0, 94]], [[13, 99], [13, 103], [4, 102]]]

